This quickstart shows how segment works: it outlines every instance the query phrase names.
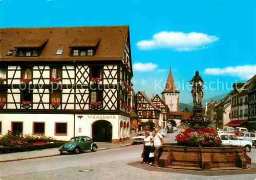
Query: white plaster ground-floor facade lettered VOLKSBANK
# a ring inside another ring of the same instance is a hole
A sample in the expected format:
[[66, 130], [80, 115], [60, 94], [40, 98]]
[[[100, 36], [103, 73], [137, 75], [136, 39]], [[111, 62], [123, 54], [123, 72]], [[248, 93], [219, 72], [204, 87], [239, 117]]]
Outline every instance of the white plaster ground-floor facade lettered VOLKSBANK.
[[[79, 118], [78, 116], [82, 117]], [[2, 135], [6, 134], [8, 130], [11, 131], [12, 122], [23, 122], [23, 134], [30, 135], [33, 134], [33, 122], [44, 122], [45, 136], [50, 136], [57, 140], [70, 140], [70, 138], [80, 135], [92, 137], [92, 126], [99, 120], [106, 120], [112, 124], [112, 140], [130, 138], [130, 118], [121, 115], [1, 114], [0, 117], [0, 121], [2, 121]], [[129, 122], [129, 127], [120, 127], [121, 121], [126, 124]], [[55, 134], [56, 122], [67, 123], [67, 135]]]

